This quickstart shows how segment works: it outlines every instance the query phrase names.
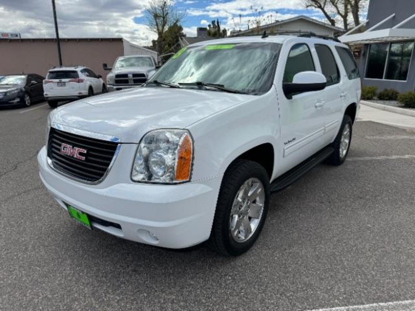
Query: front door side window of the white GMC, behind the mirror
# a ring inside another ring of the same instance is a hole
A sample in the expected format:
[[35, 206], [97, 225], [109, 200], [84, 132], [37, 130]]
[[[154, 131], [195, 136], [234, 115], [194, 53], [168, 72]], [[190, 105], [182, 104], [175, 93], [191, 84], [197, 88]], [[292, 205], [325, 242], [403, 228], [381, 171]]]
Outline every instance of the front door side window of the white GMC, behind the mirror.
[[308, 45], [299, 43], [293, 45], [288, 54], [283, 82], [292, 83], [294, 75], [303, 71], [315, 71], [315, 66]]

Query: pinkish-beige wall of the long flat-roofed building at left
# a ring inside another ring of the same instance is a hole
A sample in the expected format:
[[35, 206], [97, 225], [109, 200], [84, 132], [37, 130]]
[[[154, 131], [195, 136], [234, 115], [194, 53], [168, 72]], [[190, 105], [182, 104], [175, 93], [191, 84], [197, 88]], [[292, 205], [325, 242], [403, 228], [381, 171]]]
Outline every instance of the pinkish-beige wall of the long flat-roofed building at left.
[[[84, 65], [106, 77], [102, 64], [112, 64], [124, 55], [122, 38], [114, 39], [61, 39], [63, 66]], [[38, 73], [45, 76], [58, 66], [55, 39], [0, 39], [0, 75]]]

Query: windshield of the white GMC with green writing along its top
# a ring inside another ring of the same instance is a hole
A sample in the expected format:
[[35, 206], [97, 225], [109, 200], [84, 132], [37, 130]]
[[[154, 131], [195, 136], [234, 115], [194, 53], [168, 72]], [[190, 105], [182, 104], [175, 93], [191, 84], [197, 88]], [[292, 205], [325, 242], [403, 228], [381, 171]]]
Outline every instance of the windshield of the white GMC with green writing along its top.
[[151, 81], [211, 83], [248, 94], [263, 94], [272, 85], [281, 44], [215, 44], [183, 48]]

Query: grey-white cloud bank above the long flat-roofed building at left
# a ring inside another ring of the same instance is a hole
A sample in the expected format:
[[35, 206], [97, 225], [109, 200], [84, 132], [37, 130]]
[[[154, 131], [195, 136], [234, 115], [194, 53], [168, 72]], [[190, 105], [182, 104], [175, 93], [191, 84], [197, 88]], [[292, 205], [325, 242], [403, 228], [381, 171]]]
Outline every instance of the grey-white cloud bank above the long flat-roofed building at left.
[[[122, 36], [136, 44], [149, 45], [156, 34], [133, 20], [143, 16], [147, 1], [56, 1], [59, 34], [63, 38]], [[23, 38], [55, 35], [49, 1], [1, 0], [0, 16], [2, 31], [20, 32]]]

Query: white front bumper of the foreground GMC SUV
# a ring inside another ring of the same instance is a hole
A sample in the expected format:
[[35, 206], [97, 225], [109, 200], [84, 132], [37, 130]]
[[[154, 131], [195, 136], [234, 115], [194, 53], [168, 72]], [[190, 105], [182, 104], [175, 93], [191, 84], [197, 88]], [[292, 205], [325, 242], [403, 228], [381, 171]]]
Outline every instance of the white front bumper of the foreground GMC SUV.
[[[122, 148], [119, 156], [122, 157]], [[210, 236], [219, 178], [181, 185], [114, 183], [117, 164], [121, 162], [118, 157], [107, 178], [91, 186], [52, 170], [47, 164], [45, 147], [37, 159], [40, 178], [61, 207], [66, 209], [63, 203], [66, 202], [93, 217], [121, 226], [119, 229], [92, 221], [94, 228], [166, 248], [186, 248]]]

